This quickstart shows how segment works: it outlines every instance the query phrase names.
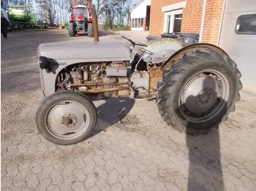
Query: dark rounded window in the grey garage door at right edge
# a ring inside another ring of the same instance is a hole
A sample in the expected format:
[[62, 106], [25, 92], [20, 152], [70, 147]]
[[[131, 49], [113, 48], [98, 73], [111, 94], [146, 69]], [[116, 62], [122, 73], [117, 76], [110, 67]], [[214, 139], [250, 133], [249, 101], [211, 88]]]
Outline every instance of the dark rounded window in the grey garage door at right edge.
[[256, 34], [256, 14], [239, 16], [236, 21], [236, 34]]

